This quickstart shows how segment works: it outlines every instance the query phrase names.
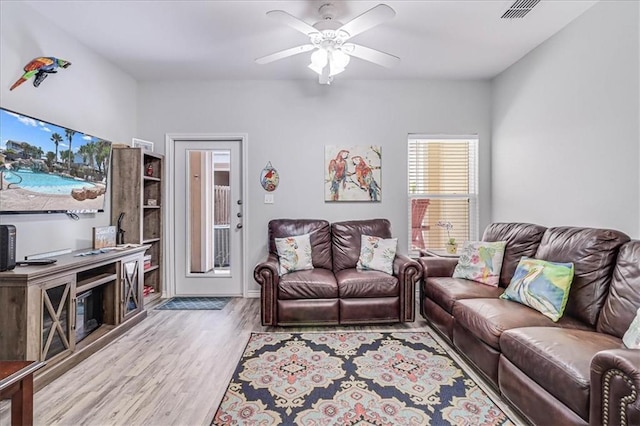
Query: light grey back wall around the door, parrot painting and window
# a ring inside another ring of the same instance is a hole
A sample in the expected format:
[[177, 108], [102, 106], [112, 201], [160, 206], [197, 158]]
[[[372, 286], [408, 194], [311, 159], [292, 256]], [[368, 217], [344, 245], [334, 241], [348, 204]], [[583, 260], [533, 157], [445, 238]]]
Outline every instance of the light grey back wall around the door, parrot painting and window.
[[[245, 276], [266, 257], [273, 218], [329, 221], [385, 217], [407, 252], [407, 134], [478, 133], [480, 222], [490, 204], [488, 81], [194, 81], [140, 83], [138, 134], [161, 147], [166, 133], [247, 133], [249, 247]], [[324, 202], [325, 145], [382, 146], [381, 203]], [[159, 149], [159, 150], [160, 150]], [[280, 173], [275, 204], [265, 205], [260, 171]]]

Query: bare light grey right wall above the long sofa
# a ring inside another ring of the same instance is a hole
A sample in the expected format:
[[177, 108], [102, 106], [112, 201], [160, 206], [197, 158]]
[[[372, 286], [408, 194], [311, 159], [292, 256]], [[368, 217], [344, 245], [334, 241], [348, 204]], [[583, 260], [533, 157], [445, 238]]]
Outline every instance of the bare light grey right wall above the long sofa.
[[493, 81], [493, 221], [640, 237], [638, 2], [606, 1]]

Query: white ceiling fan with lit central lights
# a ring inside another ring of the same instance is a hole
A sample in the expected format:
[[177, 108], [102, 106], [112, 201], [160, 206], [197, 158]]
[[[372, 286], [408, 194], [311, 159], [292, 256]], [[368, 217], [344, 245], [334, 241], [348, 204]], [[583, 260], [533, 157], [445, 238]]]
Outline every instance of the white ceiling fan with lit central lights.
[[270, 18], [308, 36], [309, 43], [263, 56], [256, 59], [256, 62], [268, 64], [313, 50], [309, 68], [318, 73], [320, 84], [330, 84], [333, 76], [345, 70], [352, 56], [387, 68], [400, 62], [400, 58], [397, 56], [359, 44], [347, 43], [352, 37], [393, 18], [396, 12], [391, 7], [379, 4], [346, 24], [334, 19], [336, 8], [332, 3], [323, 4], [318, 11], [322, 20], [313, 25], [309, 25], [283, 10], [267, 12], [267, 16]]

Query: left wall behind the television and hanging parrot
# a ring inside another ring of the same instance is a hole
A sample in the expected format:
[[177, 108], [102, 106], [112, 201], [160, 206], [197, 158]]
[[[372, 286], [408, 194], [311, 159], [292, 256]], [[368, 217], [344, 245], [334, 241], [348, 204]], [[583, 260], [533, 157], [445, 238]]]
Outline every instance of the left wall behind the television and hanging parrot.
[[[72, 65], [38, 88], [30, 80], [9, 91], [24, 65], [38, 56], [59, 57]], [[21, 2], [0, 2], [0, 59], [2, 107], [114, 142], [129, 143], [135, 136], [135, 80]], [[77, 222], [64, 214], [4, 215], [0, 224], [16, 225], [21, 259], [90, 247], [92, 227], [109, 225], [108, 207], [105, 213], [81, 215]]]

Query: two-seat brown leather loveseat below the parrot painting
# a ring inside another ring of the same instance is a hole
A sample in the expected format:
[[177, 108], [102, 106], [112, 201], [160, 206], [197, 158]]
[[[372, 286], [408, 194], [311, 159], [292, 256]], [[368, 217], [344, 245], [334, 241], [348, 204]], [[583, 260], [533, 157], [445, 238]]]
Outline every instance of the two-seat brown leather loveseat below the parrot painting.
[[[314, 269], [278, 275], [275, 238], [311, 234]], [[269, 222], [269, 254], [253, 276], [261, 286], [265, 326], [410, 322], [415, 319], [415, 285], [422, 268], [396, 255], [393, 275], [358, 271], [361, 235], [391, 238], [386, 219], [329, 224], [326, 220]]]

